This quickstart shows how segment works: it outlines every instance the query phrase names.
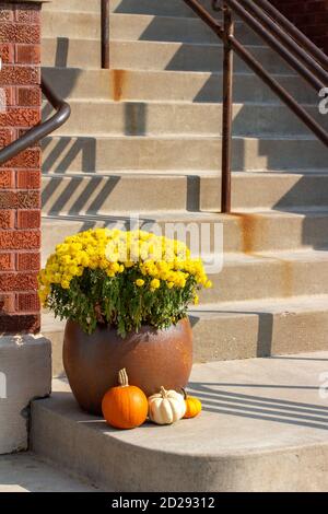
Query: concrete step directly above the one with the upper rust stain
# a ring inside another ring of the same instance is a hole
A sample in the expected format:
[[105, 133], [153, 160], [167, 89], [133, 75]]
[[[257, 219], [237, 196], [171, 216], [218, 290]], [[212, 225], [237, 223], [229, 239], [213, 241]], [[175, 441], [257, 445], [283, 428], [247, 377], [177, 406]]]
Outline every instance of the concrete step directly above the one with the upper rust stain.
[[[56, 25], [54, 27], [54, 31]], [[60, 32], [63, 34], [63, 31]], [[95, 38], [72, 39], [66, 35], [45, 33], [43, 39], [43, 65], [74, 68], [99, 68], [101, 43]], [[248, 45], [247, 48], [269, 69], [271, 73], [288, 73], [291, 70], [263, 46]], [[147, 71], [222, 71], [223, 51], [221, 44], [166, 43], [147, 40], [112, 40], [112, 67], [124, 70]], [[235, 71], [249, 69], [238, 58]], [[300, 79], [298, 79], [300, 80]]]

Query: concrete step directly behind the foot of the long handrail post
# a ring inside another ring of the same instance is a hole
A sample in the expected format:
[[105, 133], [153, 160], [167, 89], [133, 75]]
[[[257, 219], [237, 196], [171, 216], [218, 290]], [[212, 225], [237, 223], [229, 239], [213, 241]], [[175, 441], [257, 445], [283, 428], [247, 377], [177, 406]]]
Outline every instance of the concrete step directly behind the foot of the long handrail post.
[[[45, 214], [126, 215], [151, 212], [220, 212], [219, 175], [45, 174]], [[245, 209], [327, 209], [328, 175], [234, 173], [233, 211]]]

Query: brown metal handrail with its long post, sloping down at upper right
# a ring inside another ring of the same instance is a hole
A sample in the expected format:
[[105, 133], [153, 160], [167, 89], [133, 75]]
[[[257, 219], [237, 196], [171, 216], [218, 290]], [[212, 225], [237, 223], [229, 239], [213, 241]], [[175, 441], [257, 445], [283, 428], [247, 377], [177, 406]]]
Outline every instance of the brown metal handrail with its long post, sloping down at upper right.
[[[233, 104], [233, 52], [290, 107], [293, 113], [328, 147], [328, 132], [302, 107], [297, 101], [265, 70], [260, 62], [238, 42], [234, 35], [233, 12], [253, 28], [317, 92], [328, 86], [327, 58], [305, 35], [271, 5], [267, 0], [212, 1], [214, 10], [222, 10], [223, 26], [197, 0], [184, 0], [192, 11], [223, 40], [223, 122], [222, 122], [222, 212], [231, 211], [232, 168], [232, 104]], [[286, 30], [289, 32], [286, 32]]]

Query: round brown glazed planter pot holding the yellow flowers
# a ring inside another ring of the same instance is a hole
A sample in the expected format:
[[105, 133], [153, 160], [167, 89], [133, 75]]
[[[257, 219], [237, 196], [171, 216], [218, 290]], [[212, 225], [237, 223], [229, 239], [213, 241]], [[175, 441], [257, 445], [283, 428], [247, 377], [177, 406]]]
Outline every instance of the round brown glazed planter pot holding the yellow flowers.
[[115, 328], [102, 326], [89, 336], [77, 323], [67, 322], [63, 366], [79, 405], [90, 413], [102, 413], [104, 394], [117, 385], [122, 367], [129, 383], [150, 396], [161, 386], [185, 387], [191, 365], [192, 331], [187, 318], [167, 330], [142, 327], [126, 339]]

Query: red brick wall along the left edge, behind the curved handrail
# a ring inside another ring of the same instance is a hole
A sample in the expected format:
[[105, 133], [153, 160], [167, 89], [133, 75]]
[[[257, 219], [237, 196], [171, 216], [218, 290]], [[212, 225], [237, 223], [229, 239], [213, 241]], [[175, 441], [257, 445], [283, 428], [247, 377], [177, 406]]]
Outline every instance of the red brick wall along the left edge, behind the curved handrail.
[[[40, 120], [40, 7], [0, 0], [0, 148]], [[5, 105], [4, 105], [5, 100]], [[0, 332], [37, 331], [40, 150], [0, 166]]]

